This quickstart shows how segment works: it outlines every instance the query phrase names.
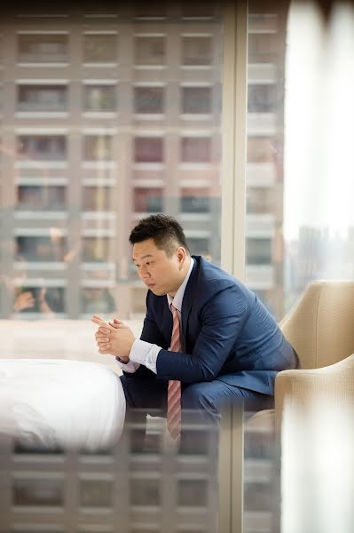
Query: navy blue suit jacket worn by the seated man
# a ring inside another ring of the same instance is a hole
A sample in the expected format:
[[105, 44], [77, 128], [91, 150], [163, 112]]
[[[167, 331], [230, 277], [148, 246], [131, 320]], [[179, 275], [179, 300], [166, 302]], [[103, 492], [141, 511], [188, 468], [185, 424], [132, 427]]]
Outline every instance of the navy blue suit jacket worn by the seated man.
[[[167, 297], [147, 293], [141, 339], [162, 348], [157, 378], [186, 384], [218, 379], [273, 394], [279, 370], [298, 366], [293, 347], [251, 290], [205, 259], [193, 259], [181, 313], [183, 353], [169, 351], [172, 314]], [[126, 376], [156, 378], [145, 366]]]

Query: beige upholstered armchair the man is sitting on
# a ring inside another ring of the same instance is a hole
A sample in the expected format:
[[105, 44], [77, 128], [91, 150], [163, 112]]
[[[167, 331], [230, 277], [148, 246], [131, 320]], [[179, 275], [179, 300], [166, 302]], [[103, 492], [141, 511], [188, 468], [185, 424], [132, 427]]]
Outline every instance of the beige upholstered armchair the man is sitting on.
[[274, 410], [264, 410], [249, 426], [279, 428], [287, 406], [305, 406], [311, 399], [354, 399], [354, 281], [311, 282], [295, 307], [280, 322], [295, 347], [301, 370], [283, 370], [275, 380]]

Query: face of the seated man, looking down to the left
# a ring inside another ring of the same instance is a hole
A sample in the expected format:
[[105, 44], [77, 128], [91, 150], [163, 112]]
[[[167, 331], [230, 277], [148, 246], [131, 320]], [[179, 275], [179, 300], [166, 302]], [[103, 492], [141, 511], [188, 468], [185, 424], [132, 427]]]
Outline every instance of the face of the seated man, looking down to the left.
[[175, 296], [185, 278], [185, 259], [184, 248], [177, 244], [171, 257], [159, 250], [153, 239], [133, 246], [133, 262], [139, 277], [156, 296]]

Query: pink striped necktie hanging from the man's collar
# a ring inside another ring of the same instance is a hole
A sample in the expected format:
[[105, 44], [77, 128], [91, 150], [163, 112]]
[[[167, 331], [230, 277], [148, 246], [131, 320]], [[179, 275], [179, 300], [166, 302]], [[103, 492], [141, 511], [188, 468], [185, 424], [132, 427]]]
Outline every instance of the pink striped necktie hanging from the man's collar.
[[[180, 324], [178, 311], [173, 304], [169, 306], [173, 316], [172, 336], [169, 350], [181, 352]], [[167, 394], [167, 427], [172, 439], [177, 439], [181, 433], [181, 382], [177, 379], [169, 380]]]

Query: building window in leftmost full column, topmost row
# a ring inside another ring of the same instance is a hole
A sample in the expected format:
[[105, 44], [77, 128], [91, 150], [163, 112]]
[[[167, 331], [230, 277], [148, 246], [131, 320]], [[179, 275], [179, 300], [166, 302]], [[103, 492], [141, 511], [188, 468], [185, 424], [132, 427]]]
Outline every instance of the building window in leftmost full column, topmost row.
[[67, 35], [20, 35], [18, 40], [18, 60], [20, 63], [67, 62]]

